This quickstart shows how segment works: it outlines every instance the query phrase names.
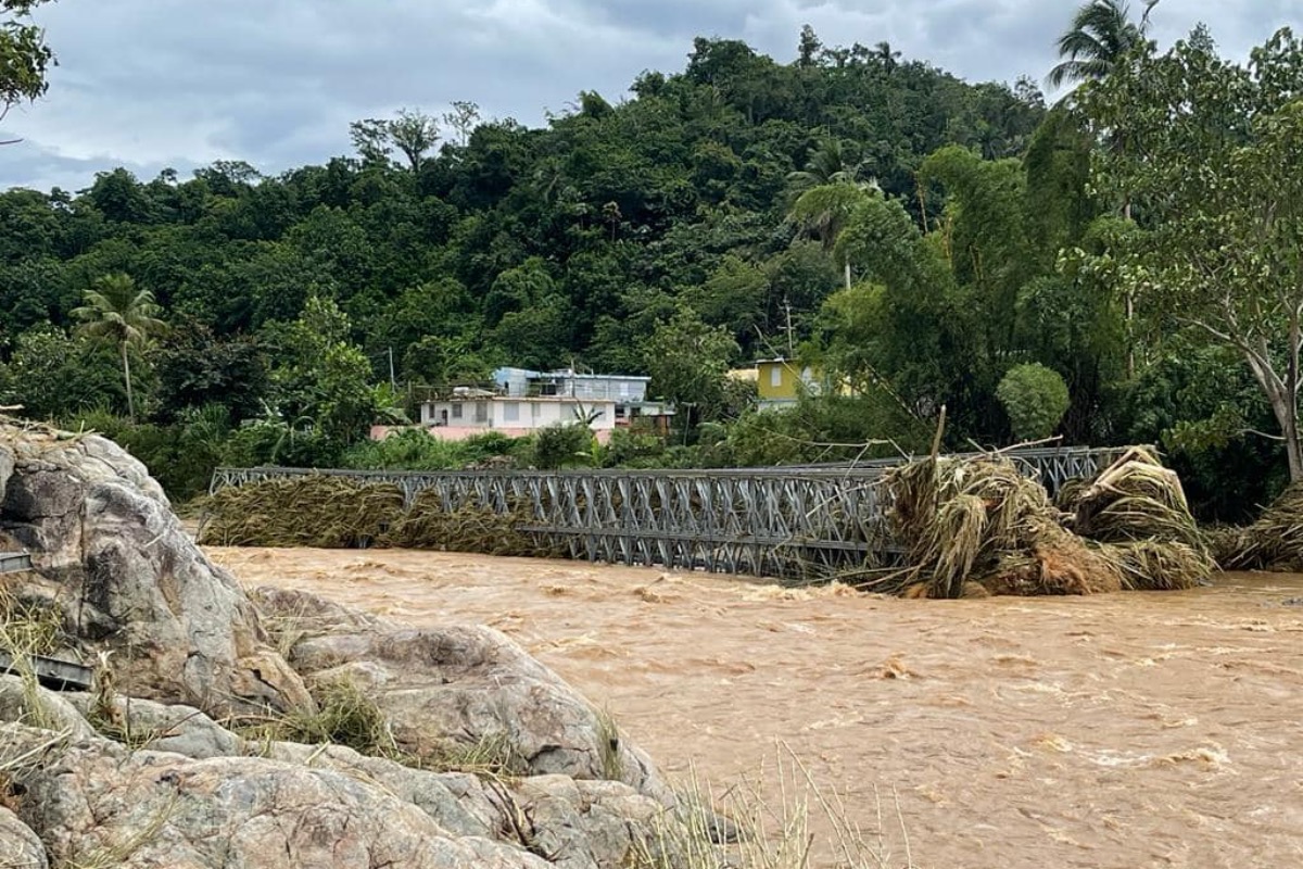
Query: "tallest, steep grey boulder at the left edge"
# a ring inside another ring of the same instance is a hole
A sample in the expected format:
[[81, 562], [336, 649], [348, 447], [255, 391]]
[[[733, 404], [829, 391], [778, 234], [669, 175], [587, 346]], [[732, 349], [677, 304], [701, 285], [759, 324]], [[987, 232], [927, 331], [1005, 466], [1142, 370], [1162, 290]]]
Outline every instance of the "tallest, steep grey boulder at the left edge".
[[87, 658], [112, 651], [124, 693], [215, 715], [310, 706], [235, 578], [136, 459], [94, 435], [0, 423], [0, 478], [9, 464], [0, 534], [39, 575], [20, 593], [57, 603]]

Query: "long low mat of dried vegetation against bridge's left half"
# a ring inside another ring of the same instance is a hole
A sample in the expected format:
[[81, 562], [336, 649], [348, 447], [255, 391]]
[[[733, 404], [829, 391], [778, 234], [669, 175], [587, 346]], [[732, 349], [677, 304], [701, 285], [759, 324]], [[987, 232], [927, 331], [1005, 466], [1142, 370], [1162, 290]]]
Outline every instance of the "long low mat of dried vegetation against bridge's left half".
[[516, 530], [517, 509], [470, 502], [444, 509], [426, 490], [409, 506], [392, 483], [304, 476], [231, 486], [207, 498], [199, 542], [208, 546], [401, 546], [489, 555], [554, 555]]

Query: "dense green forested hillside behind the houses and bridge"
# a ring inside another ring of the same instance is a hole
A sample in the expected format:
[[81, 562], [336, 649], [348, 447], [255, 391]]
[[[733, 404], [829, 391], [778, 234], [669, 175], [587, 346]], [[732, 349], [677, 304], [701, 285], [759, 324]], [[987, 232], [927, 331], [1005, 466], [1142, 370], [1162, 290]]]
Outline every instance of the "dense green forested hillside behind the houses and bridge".
[[[1278, 465], [1244, 435], [1272, 417], [1234, 349], [1128, 318], [1131, 202], [1092, 182], [1098, 128], [1029, 79], [805, 29], [791, 63], [697, 39], [542, 129], [460, 103], [352, 135], [275, 177], [106, 167], [0, 194], [0, 403], [116, 427], [181, 491], [216, 461], [356, 461], [408, 384], [498, 365], [650, 374], [679, 403], [687, 447], [597, 461], [891, 452], [945, 405], [951, 447], [1166, 438], [1256, 483]], [[721, 375], [777, 354], [856, 396], [748, 412]]]

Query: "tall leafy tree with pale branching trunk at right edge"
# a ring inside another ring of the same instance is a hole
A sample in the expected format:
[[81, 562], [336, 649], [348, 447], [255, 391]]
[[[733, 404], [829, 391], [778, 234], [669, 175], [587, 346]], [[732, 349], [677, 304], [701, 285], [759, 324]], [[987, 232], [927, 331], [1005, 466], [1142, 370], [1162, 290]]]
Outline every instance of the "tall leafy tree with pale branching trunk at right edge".
[[1303, 46], [1287, 29], [1248, 66], [1196, 30], [1162, 56], [1131, 61], [1085, 94], [1092, 120], [1134, 147], [1097, 152], [1098, 182], [1126, 192], [1139, 225], [1097, 261], [1154, 318], [1234, 348], [1303, 479], [1298, 395], [1303, 354]]

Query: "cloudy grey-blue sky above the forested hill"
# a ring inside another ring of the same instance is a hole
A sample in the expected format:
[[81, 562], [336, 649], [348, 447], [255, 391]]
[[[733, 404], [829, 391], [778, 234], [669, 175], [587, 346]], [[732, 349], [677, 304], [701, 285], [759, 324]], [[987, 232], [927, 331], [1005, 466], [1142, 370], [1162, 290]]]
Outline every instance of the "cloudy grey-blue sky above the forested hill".
[[[348, 124], [400, 107], [542, 124], [580, 90], [616, 100], [644, 69], [683, 69], [696, 35], [790, 61], [803, 23], [825, 44], [887, 40], [964, 78], [1041, 79], [1080, 0], [57, 0], [38, 10], [60, 66], [5, 119], [0, 188], [85, 188], [125, 165], [241, 159], [267, 173], [349, 151]], [[1140, 4], [1140, 0], [1134, 0]], [[1205, 21], [1244, 56], [1303, 0], [1162, 0], [1161, 44]]]

